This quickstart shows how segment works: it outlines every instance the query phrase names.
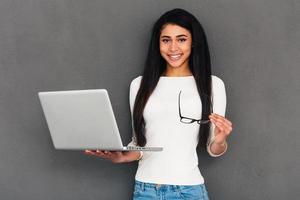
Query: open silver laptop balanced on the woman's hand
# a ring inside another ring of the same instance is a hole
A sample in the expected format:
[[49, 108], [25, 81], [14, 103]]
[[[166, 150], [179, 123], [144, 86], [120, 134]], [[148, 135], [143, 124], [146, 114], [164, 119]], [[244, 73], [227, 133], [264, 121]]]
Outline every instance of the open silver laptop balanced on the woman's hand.
[[123, 146], [106, 89], [38, 93], [56, 149], [162, 151], [162, 147]]

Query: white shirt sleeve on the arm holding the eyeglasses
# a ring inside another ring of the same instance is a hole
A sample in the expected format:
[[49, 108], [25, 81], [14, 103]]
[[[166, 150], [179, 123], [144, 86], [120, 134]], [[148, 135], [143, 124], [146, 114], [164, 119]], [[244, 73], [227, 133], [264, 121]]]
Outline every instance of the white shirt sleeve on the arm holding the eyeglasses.
[[[226, 111], [226, 90], [224, 82], [217, 76], [212, 75], [212, 104], [213, 104], [213, 112], [217, 113], [219, 115], [225, 116]], [[215, 125], [211, 123], [209, 137], [207, 140], [207, 152], [212, 157], [218, 157], [223, 155], [227, 150], [227, 144], [226, 149], [221, 154], [213, 154], [210, 150], [210, 145], [215, 139], [214, 135]]]

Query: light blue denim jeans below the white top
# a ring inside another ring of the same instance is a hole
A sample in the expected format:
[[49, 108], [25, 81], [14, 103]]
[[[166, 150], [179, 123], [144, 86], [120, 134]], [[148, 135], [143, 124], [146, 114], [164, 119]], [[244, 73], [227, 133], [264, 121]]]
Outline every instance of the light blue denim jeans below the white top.
[[135, 180], [133, 200], [209, 200], [204, 184], [160, 185]]

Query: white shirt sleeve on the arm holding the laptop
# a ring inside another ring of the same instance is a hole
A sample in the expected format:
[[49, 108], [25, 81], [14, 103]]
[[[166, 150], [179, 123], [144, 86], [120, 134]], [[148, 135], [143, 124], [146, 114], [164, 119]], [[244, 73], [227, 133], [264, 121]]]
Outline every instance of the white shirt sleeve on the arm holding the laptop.
[[142, 76], [136, 77], [131, 81], [129, 86], [129, 107], [130, 107], [130, 116], [131, 116], [132, 140], [127, 146], [137, 146], [134, 126], [133, 126], [133, 107], [134, 107], [134, 102], [135, 102], [137, 92], [140, 88], [141, 79]]

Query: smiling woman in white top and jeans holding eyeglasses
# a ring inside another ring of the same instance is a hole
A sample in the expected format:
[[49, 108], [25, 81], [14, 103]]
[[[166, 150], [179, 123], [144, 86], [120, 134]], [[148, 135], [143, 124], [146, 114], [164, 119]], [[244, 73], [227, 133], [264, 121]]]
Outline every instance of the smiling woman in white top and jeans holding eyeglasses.
[[232, 123], [224, 117], [223, 81], [211, 75], [204, 30], [182, 9], [154, 24], [143, 76], [130, 84], [133, 140], [162, 152], [86, 151], [114, 163], [139, 160], [133, 199], [208, 199], [196, 147], [217, 157], [227, 150]]

